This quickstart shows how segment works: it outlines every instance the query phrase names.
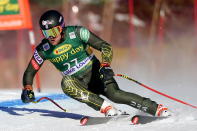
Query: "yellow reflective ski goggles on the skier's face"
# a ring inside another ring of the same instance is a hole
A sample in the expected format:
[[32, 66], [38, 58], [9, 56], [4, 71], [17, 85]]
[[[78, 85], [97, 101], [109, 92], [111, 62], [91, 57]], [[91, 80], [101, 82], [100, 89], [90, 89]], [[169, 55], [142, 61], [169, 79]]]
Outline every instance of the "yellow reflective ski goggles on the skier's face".
[[44, 35], [45, 38], [49, 37], [57, 37], [58, 35], [61, 34], [62, 32], [62, 27], [61, 26], [56, 26], [48, 30], [41, 30], [42, 34]]

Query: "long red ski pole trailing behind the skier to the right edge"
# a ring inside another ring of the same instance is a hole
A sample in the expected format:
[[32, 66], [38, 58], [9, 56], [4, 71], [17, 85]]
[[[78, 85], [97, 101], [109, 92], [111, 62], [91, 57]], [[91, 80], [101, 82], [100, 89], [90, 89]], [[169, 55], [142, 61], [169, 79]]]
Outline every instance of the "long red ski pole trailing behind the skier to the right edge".
[[148, 86], [146, 86], [146, 85], [144, 85], [144, 84], [142, 84], [142, 83], [140, 83], [140, 82], [138, 82], [138, 81], [136, 81], [136, 80], [134, 80], [134, 79], [132, 79], [132, 78], [130, 78], [130, 77], [128, 77], [128, 76], [126, 76], [126, 75], [116, 74], [115, 76], [120, 76], [120, 77], [123, 77], [123, 78], [125, 78], [125, 79], [131, 80], [131, 81], [133, 81], [133, 82], [135, 82], [135, 83], [137, 83], [137, 84], [139, 84], [139, 85], [145, 87], [146, 89], [151, 90], [151, 91], [153, 91], [153, 92], [155, 92], [155, 93], [157, 93], [157, 94], [159, 94], [159, 95], [162, 95], [162, 96], [164, 96], [164, 97], [167, 97], [167, 98], [172, 99], [172, 100], [174, 100], [174, 101], [177, 101], [177, 102], [179, 102], [179, 103], [188, 105], [188, 106], [190, 106], [190, 107], [197, 108], [197, 107], [194, 106], [194, 105], [191, 105], [191, 104], [186, 103], [186, 102], [184, 102], [184, 101], [182, 101], [182, 100], [179, 100], [179, 99], [177, 99], [177, 98], [174, 98], [174, 97], [172, 97], [172, 96], [169, 96], [169, 95], [167, 95], [167, 94], [164, 94], [164, 93], [162, 93], [162, 92], [159, 92], [159, 91], [157, 91], [157, 90], [155, 90], [155, 89], [152, 89], [152, 88], [150, 88], [150, 87], [148, 87]]

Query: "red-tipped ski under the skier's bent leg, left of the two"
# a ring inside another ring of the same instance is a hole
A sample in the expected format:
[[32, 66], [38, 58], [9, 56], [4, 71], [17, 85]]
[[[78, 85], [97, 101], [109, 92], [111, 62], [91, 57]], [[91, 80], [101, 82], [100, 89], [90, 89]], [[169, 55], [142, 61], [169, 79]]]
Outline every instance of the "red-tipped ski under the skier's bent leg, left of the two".
[[110, 121], [122, 121], [122, 120], [127, 120], [131, 118], [131, 115], [129, 114], [122, 114], [118, 116], [109, 116], [109, 117], [90, 117], [90, 116], [84, 116], [80, 120], [80, 124], [82, 126], [87, 126], [87, 125], [98, 125], [98, 124], [104, 124], [108, 123]]

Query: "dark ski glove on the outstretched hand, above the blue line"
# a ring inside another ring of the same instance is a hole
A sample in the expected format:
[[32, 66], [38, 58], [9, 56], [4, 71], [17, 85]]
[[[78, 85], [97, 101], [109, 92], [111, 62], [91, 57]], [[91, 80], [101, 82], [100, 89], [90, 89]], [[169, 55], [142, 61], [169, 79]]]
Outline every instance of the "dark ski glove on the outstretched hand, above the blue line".
[[35, 100], [34, 92], [31, 86], [26, 86], [21, 94], [21, 100], [24, 103], [29, 103]]

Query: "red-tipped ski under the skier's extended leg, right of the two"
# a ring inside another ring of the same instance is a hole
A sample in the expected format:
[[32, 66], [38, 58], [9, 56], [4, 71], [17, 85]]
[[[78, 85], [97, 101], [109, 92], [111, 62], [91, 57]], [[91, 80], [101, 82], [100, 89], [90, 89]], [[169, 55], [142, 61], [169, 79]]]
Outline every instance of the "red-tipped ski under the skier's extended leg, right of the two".
[[145, 115], [135, 115], [131, 118], [131, 124], [147, 124], [157, 120], [163, 120], [169, 117], [156, 117], [156, 116], [145, 116]]

